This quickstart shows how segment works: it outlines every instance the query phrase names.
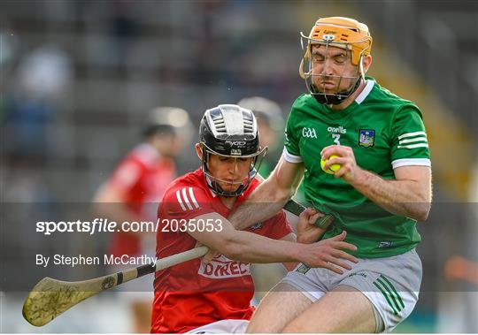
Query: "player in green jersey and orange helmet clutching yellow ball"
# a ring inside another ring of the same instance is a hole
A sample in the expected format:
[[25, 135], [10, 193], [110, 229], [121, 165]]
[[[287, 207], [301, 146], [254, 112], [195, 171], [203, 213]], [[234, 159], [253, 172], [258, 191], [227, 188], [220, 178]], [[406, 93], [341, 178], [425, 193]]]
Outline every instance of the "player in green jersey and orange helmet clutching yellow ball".
[[[342, 274], [299, 265], [261, 301], [248, 331], [391, 331], [410, 315], [420, 291], [415, 226], [431, 202], [421, 113], [366, 77], [372, 37], [365, 24], [318, 19], [302, 42], [299, 73], [309, 94], [292, 106], [273, 173], [229, 219], [243, 229], [272, 217], [304, 178], [313, 207], [307, 210], [334, 214], [328, 236], [346, 231], [359, 262]], [[320, 168], [320, 159], [331, 156], [337, 157], [324, 169], [340, 164], [334, 174]], [[297, 241], [313, 239], [314, 229]]]

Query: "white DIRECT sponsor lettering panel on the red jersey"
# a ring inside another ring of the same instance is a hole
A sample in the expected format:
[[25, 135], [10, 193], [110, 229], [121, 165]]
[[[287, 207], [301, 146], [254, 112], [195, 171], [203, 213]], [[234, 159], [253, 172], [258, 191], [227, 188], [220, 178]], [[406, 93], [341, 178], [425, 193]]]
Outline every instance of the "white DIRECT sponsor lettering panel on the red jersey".
[[251, 263], [235, 262], [220, 255], [209, 264], [201, 263], [197, 273], [206, 278], [243, 277], [251, 275]]

